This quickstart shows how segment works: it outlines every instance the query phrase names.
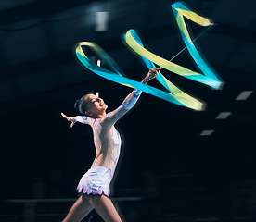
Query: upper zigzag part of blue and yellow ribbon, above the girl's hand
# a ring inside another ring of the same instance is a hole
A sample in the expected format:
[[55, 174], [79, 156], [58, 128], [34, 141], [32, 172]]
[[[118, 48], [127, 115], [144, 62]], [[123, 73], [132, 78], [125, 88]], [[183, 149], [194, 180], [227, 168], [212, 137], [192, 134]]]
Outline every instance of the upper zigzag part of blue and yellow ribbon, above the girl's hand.
[[222, 81], [217, 78], [217, 75], [213, 72], [209, 66], [205, 63], [202, 57], [199, 55], [198, 50], [195, 45], [191, 41], [191, 38], [186, 29], [186, 24], [183, 19], [185, 16], [187, 19], [191, 19], [194, 22], [198, 23], [201, 26], [211, 26], [211, 22], [209, 19], [198, 16], [196, 13], [190, 11], [186, 6], [182, 3], [177, 2], [172, 5], [173, 12], [175, 14], [175, 18], [181, 31], [182, 38], [186, 43], [186, 48], [190, 55], [193, 57], [194, 61], [198, 65], [198, 68], [204, 73], [204, 75], [199, 74], [198, 72], [192, 71], [190, 69], [181, 67], [171, 61], [168, 61], [160, 56], [156, 56], [155, 54], [150, 53], [147, 49], [144, 48], [143, 43], [141, 42], [139, 36], [134, 30], [127, 31], [124, 34], [125, 42], [136, 52], [138, 55], [142, 56], [144, 62], [147, 67], [147, 60], [159, 65], [162, 68], [165, 68], [169, 71], [172, 71], [178, 75], [186, 77], [190, 80], [195, 80], [206, 85], [211, 86], [213, 89], [219, 89], [222, 85]]

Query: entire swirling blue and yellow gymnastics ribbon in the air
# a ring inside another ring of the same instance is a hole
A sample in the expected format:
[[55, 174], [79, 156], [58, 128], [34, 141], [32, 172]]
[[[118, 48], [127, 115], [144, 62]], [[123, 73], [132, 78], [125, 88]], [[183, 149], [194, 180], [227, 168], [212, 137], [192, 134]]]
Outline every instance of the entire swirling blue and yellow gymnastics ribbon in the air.
[[[196, 63], [201, 63], [203, 60], [201, 56], [199, 56], [198, 51], [196, 47], [194, 46], [193, 42], [191, 42], [191, 39], [188, 35], [188, 32], [186, 30], [186, 25], [183, 20], [183, 15], [191, 19], [195, 22], [197, 22], [200, 25], [206, 26], [211, 25], [211, 22], [208, 19], [205, 19], [203, 17], [198, 16], [196, 13], [190, 11], [187, 9], [183, 4], [181, 3], [175, 3], [173, 4], [173, 10], [174, 14], [177, 19], [178, 26], [180, 30], [182, 31], [183, 39], [186, 43], [186, 47], [190, 53], [190, 55], [194, 58]], [[203, 66], [198, 64], [198, 67], [202, 70], [202, 72], [205, 74], [201, 75], [198, 72], [191, 71], [190, 69], [183, 68], [181, 66], [178, 66], [171, 61], [168, 61], [166, 59], [161, 58], [160, 56], [156, 56], [147, 49], [144, 48], [143, 43], [141, 42], [140, 38], [138, 37], [137, 33], [134, 30], [127, 31], [124, 35], [124, 39], [126, 43], [140, 56], [142, 56], [144, 62], [147, 65], [147, 68], [156, 68], [154, 63], [161, 66], [162, 68], [166, 68], [176, 74], [182, 75], [186, 78], [189, 78], [191, 80], [197, 80], [199, 82], [202, 82], [204, 84], [207, 84], [211, 86], [214, 89], [218, 89], [221, 85], [221, 81], [218, 80], [216, 75], [211, 71], [211, 68], [206, 66], [205, 62], [203, 63]], [[104, 60], [113, 70], [110, 71], [106, 68], [101, 68], [99, 66], [96, 66], [95, 63], [93, 63], [83, 52], [82, 46], [90, 47], [93, 51], [95, 51], [96, 55], [99, 56], [102, 60]], [[196, 53], [195, 53], [196, 52]], [[156, 77], [157, 80], [160, 81], [160, 83], [171, 93], [167, 93], [164, 91], [161, 91], [155, 87], [146, 85], [144, 83], [138, 82], [136, 80], [131, 80], [129, 78], [126, 78], [122, 75], [122, 70], [118, 67], [118, 65], [113, 61], [113, 59], [106, 53], [104, 50], [102, 50], [96, 43], [89, 43], [89, 42], [82, 42], [79, 43], [79, 45], [76, 48], [76, 56], [79, 58], [79, 60], [83, 63], [83, 65], [86, 68], [89, 68], [93, 72], [95, 72], [97, 75], [106, 78], [108, 80], [112, 80], [114, 82], [120, 83], [122, 85], [135, 88], [137, 90], [143, 91], [145, 93], [152, 94], [154, 96], [160, 97], [161, 99], [164, 99], [166, 101], [169, 101], [176, 105], [183, 105], [191, 109], [195, 110], [202, 110], [204, 108], [204, 104], [200, 102], [198, 99], [195, 99], [191, 97], [190, 95], [184, 93], [182, 90], [177, 88], [173, 85], [172, 82], [167, 80], [164, 76], [162, 76], [161, 73]], [[154, 63], [153, 63], [154, 62]]]

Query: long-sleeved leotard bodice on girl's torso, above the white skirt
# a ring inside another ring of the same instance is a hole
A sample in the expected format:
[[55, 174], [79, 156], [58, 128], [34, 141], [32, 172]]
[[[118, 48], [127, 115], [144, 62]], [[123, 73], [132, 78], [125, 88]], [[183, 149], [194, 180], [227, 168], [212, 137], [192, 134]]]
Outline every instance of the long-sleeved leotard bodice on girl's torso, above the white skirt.
[[76, 117], [76, 121], [88, 124], [93, 129], [96, 158], [92, 167], [103, 166], [107, 168], [111, 178], [118, 163], [122, 143], [120, 134], [115, 129], [114, 124], [134, 106], [140, 94], [141, 91], [134, 90], [126, 97], [122, 105], [102, 118]]

